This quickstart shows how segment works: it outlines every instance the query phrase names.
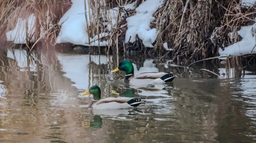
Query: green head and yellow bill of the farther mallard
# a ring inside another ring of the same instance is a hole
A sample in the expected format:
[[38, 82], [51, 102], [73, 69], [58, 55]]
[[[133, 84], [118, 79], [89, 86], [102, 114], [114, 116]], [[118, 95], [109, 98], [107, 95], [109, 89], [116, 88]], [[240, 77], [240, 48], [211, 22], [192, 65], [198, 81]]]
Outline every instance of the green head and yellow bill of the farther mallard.
[[130, 61], [128, 60], [123, 60], [121, 62], [119, 62], [119, 65], [116, 69], [114, 69], [112, 72], [117, 72], [117, 71], [125, 71], [126, 72], [126, 75], [127, 74], [134, 74], [134, 68], [133, 68], [133, 65], [131, 64]]

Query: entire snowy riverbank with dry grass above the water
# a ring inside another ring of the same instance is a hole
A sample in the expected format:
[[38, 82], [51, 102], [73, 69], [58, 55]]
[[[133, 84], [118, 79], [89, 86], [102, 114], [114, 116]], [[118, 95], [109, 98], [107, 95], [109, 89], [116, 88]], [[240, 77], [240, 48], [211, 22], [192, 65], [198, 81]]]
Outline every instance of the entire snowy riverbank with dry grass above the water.
[[246, 2], [122, 0], [118, 5], [106, 0], [104, 5], [90, 0], [1, 1], [0, 31], [5, 33], [1, 42], [25, 44], [29, 49], [38, 42], [52, 47], [71, 43], [63, 49], [100, 49], [122, 55], [147, 52], [184, 63], [249, 54], [256, 52], [252, 29], [256, 10]]

